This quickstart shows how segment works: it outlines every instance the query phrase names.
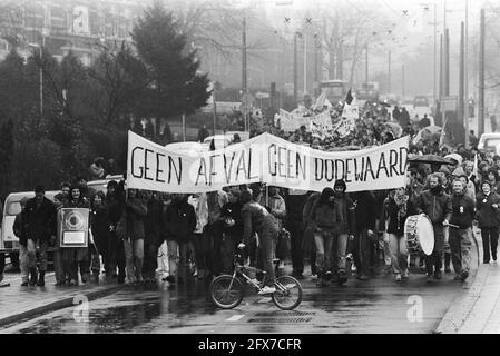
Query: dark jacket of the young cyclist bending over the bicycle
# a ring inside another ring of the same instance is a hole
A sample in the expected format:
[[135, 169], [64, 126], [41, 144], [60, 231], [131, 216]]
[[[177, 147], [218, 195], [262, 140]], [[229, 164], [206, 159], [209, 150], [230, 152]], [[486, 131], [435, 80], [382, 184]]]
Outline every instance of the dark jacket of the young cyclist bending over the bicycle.
[[277, 221], [274, 216], [267, 211], [262, 205], [255, 201], [246, 202], [242, 208], [243, 219], [243, 241], [248, 245], [252, 233], [257, 233], [259, 236], [266, 234], [276, 234]]

